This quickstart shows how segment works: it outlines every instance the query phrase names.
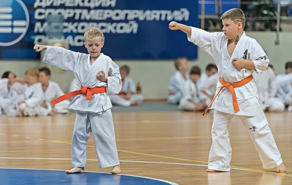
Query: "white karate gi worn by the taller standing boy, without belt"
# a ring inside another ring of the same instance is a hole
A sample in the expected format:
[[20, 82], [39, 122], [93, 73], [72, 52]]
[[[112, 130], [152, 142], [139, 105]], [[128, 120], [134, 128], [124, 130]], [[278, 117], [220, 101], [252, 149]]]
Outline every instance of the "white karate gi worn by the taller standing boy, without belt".
[[[227, 83], [239, 82], [251, 74], [254, 69], [237, 69], [232, 65], [234, 58], [252, 60], [256, 72], [260, 73], [268, 67], [269, 59], [264, 50], [243, 32], [237, 46], [230, 56], [227, 52], [227, 42], [224, 33], [208, 33], [198, 28], [191, 28], [187, 35], [190, 42], [210, 54], [218, 67], [218, 74]], [[222, 84], [217, 84], [216, 93]], [[235, 112], [231, 91], [224, 88], [212, 104], [214, 121], [212, 126], [212, 146], [209, 153], [208, 168], [219, 171], [230, 171], [231, 146], [228, 136], [228, 126], [234, 115], [240, 116], [242, 123], [250, 133], [260, 156], [263, 168], [275, 168], [282, 163], [280, 152], [274, 141], [267, 119], [256, 96], [256, 84], [252, 80], [248, 84], [234, 88], [240, 111]]]

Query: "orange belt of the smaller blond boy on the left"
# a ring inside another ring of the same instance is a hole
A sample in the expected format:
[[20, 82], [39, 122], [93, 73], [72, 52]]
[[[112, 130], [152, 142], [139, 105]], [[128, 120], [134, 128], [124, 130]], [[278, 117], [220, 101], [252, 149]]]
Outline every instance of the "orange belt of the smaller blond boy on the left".
[[72, 98], [73, 96], [80, 95], [80, 94], [86, 95], [86, 100], [91, 100], [92, 94], [107, 92], [107, 87], [93, 87], [93, 88], [91, 88], [91, 87], [81, 85], [80, 89], [81, 90], [76, 90], [76, 91], [64, 94], [63, 96], [60, 96], [51, 102], [53, 105], [55, 105], [61, 101], [67, 100], [69, 98]]

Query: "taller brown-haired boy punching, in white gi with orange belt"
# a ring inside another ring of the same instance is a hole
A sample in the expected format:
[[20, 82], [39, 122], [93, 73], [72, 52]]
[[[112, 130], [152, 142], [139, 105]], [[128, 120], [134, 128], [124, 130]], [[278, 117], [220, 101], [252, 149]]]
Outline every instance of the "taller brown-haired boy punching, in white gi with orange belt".
[[269, 59], [256, 40], [246, 36], [243, 31], [245, 16], [240, 9], [225, 12], [221, 19], [222, 33], [209, 33], [174, 21], [169, 23], [169, 29], [186, 33], [188, 40], [210, 54], [218, 67], [220, 78], [214, 98], [215, 106], [212, 106], [215, 108], [212, 146], [206, 172], [230, 171], [232, 150], [228, 126], [234, 115], [239, 116], [250, 132], [263, 168], [285, 172], [280, 152], [256, 96], [256, 84], [252, 76], [254, 71], [265, 70]]

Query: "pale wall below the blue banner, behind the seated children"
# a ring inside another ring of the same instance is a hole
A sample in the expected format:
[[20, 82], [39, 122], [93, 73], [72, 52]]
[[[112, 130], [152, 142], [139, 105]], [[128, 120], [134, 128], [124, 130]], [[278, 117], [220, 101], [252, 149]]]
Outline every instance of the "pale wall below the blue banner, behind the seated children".
[[[280, 45], [275, 46], [275, 32], [247, 32], [267, 51], [271, 64], [277, 74], [284, 71], [286, 61], [292, 60], [292, 33], [280, 34]], [[199, 49], [198, 60], [189, 61], [189, 66], [198, 65], [204, 70], [208, 63], [214, 63], [211, 56]], [[169, 78], [175, 72], [173, 61], [115, 61], [119, 66], [131, 67], [130, 77], [135, 82], [141, 82], [142, 91], [146, 99], [166, 99]], [[0, 61], [0, 74], [5, 70], [14, 71], [19, 77], [29, 67], [40, 67], [45, 64], [39, 61]], [[55, 69], [54, 69], [55, 71]], [[71, 72], [54, 72], [52, 80], [58, 82], [67, 91], [73, 74]]]

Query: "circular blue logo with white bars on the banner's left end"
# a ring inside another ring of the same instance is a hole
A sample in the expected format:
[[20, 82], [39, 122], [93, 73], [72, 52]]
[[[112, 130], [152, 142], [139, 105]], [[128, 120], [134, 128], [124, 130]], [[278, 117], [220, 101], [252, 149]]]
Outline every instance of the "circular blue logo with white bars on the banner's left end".
[[18, 43], [28, 26], [28, 10], [21, 0], [0, 0], [0, 46]]

